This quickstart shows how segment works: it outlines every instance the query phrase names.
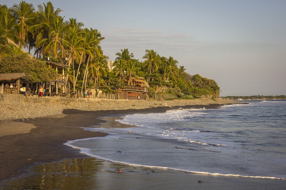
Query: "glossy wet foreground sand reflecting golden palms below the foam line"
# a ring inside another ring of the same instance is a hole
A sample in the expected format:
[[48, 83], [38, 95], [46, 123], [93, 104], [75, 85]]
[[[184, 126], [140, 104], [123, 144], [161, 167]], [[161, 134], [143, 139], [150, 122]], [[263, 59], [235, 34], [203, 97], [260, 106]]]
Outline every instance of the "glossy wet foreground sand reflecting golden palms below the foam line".
[[[36, 165], [30, 173], [2, 181], [1, 189], [283, 189], [285, 180], [191, 174], [133, 167], [97, 158]], [[202, 181], [199, 183], [198, 181]]]

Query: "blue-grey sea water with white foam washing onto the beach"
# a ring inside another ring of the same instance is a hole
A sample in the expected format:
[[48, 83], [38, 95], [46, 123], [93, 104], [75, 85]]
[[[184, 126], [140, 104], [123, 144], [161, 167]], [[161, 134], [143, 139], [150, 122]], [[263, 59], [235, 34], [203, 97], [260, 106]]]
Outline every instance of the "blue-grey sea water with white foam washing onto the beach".
[[66, 145], [127, 165], [286, 179], [285, 100], [129, 114], [118, 121], [137, 127], [85, 128], [109, 135]]

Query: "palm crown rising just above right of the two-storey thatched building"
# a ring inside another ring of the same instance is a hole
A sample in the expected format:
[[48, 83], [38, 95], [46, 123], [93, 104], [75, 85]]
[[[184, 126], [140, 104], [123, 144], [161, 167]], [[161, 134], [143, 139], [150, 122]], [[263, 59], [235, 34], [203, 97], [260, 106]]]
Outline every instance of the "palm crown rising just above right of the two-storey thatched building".
[[150, 70], [150, 74], [152, 72], [152, 69], [153, 71], [156, 71], [158, 69], [158, 65], [161, 62], [160, 56], [153, 49], [146, 50], [146, 54], [142, 58], [147, 59], [143, 62], [143, 64], [145, 64], [148, 70]]

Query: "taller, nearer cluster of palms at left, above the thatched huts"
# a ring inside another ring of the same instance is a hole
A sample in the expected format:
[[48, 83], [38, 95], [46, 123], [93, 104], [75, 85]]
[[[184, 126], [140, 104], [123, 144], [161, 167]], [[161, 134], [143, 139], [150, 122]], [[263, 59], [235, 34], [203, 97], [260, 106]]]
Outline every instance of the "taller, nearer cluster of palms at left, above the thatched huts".
[[[84, 28], [82, 22], [71, 18], [64, 21], [60, 8], [51, 2], [37, 5], [21, 1], [8, 8], [0, 5], [0, 49], [18, 46], [34, 49], [36, 58], [51, 57], [82, 73], [82, 88], [86, 81], [99, 81], [107, 57], [103, 55], [100, 42], [104, 39], [97, 29]], [[67, 72], [67, 81], [70, 73]], [[72, 81], [72, 80], [71, 80]]]

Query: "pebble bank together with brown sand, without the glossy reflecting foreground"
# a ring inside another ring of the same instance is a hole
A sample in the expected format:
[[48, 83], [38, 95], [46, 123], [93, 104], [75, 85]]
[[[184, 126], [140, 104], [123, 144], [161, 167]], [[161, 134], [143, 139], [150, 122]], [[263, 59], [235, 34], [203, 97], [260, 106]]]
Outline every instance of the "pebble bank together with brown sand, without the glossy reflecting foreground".
[[[42, 112], [43, 105], [36, 103], [33, 105], [2, 104], [0, 108], [3, 113], [0, 121], [0, 181], [12, 175], [19, 175], [23, 172], [19, 169], [28, 168], [37, 163], [87, 157], [78, 153], [78, 150], [63, 144], [70, 140], [106, 135], [84, 131], [80, 128], [106, 122], [98, 117], [118, 116], [119, 113], [163, 112], [180, 107], [217, 108], [221, 104], [229, 103], [235, 102], [232, 100], [196, 99], [76, 102], [68, 105], [49, 103], [44, 105], [44, 112]], [[30, 109], [25, 107], [30, 107]], [[31, 111], [31, 107], [33, 107], [33, 111]], [[35, 113], [40, 113], [41, 117]], [[17, 119], [13, 119], [16, 117]]]

